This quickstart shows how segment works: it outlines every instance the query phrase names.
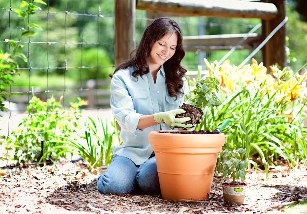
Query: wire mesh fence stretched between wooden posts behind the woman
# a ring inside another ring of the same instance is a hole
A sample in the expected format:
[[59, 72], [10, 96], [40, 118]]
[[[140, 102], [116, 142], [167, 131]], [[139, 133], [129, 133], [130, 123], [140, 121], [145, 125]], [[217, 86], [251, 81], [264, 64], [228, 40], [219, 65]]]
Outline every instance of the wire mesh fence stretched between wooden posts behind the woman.
[[[11, 52], [6, 39], [16, 40], [19, 27], [23, 21], [12, 12], [13, 8], [19, 8], [21, 1], [2, 2], [0, 8], [1, 37], [0, 48], [3, 52]], [[46, 6], [41, 11], [28, 18], [28, 22], [34, 22], [42, 27], [37, 36], [20, 41], [24, 44], [22, 52], [27, 56], [28, 62], [18, 61], [20, 76], [14, 76], [14, 84], [7, 90], [10, 92], [6, 102], [7, 112], [1, 112], [8, 117], [6, 124], [1, 123], [0, 135], [11, 137], [25, 136], [25, 146], [28, 153], [39, 152], [39, 148], [28, 146], [31, 140], [27, 136], [34, 135], [43, 139], [46, 134], [55, 132], [49, 129], [47, 123], [45, 129], [37, 131], [27, 126], [22, 132], [12, 132], [16, 123], [12, 121], [25, 121], [29, 124], [31, 118], [45, 117], [46, 121], [58, 116], [62, 118], [62, 129], [65, 132], [65, 115], [78, 113], [78, 109], [72, 109], [71, 103], [81, 97], [88, 101], [88, 105], [80, 106], [82, 111], [99, 110], [109, 108], [110, 79], [108, 74], [114, 71], [114, 1], [113, 0], [46, 0]], [[184, 36], [195, 35], [220, 35], [239, 34], [251, 32], [259, 26], [260, 20], [255, 19], [226, 19], [210, 17], [169, 16], [181, 26]], [[136, 10], [136, 44], [140, 41], [150, 19], [146, 11]], [[258, 27], [253, 32], [260, 34]], [[18, 41], [16, 41], [18, 42]], [[243, 41], [242, 41], [243, 42]], [[185, 46], [191, 48], [192, 46]], [[209, 51], [202, 51], [204, 47], [192, 47], [196, 51], [187, 51], [182, 64], [188, 71], [196, 70], [198, 65], [203, 65], [203, 58], [209, 61], [220, 60], [229, 49], [233, 48], [227, 59], [232, 64], [238, 65], [252, 51], [237, 46], [220, 47], [215, 44], [206, 47]], [[261, 60], [261, 54], [255, 55]], [[51, 111], [51, 104], [44, 112], [31, 111], [30, 103], [33, 97], [41, 101], [48, 101], [53, 97], [59, 101], [61, 111]], [[28, 110], [27, 110], [28, 109]], [[52, 116], [53, 115], [53, 116]], [[48, 135], [47, 135], [48, 136]], [[8, 146], [8, 145], [7, 145]], [[0, 156], [12, 151], [0, 150]], [[16, 154], [13, 154], [16, 155]], [[8, 161], [6, 163], [9, 164]]]

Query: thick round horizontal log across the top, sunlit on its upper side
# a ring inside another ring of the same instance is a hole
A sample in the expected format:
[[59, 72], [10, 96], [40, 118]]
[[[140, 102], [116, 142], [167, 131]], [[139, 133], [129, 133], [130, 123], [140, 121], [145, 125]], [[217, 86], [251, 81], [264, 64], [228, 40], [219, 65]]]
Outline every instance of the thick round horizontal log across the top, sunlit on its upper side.
[[274, 4], [238, 0], [137, 0], [136, 9], [189, 16], [273, 19]]

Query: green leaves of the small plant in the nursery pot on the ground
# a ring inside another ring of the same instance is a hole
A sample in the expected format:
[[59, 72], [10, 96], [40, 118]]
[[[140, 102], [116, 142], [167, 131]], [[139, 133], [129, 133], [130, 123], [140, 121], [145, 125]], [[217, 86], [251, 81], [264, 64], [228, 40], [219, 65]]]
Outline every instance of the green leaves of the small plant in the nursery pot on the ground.
[[241, 178], [241, 181], [245, 180], [245, 171], [248, 168], [248, 163], [252, 163], [257, 167], [256, 163], [252, 160], [243, 159], [245, 149], [239, 148], [236, 151], [224, 150], [221, 154], [220, 163], [217, 166], [217, 170], [223, 173], [224, 177], [230, 177], [235, 181]]

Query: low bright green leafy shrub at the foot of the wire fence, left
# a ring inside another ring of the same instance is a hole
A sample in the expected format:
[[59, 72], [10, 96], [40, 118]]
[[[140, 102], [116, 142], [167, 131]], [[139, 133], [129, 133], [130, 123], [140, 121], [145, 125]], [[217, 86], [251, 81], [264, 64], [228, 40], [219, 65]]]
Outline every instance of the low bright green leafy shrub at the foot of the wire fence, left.
[[46, 145], [45, 141], [62, 139], [57, 136], [59, 133], [64, 137], [76, 138], [80, 128], [78, 122], [81, 117], [80, 106], [87, 105], [87, 102], [78, 97], [78, 102], [70, 103], [70, 112], [64, 112], [60, 102], [61, 98], [60, 101], [56, 101], [53, 97], [42, 101], [33, 95], [25, 112], [29, 116], [23, 118], [18, 129], [10, 132], [6, 138], [8, 145], [6, 149], [15, 149], [13, 159], [17, 161], [17, 165], [38, 161], [43, 151], [44, 158], [55, 159], [60, 150], [51, 150], [54, 144]]

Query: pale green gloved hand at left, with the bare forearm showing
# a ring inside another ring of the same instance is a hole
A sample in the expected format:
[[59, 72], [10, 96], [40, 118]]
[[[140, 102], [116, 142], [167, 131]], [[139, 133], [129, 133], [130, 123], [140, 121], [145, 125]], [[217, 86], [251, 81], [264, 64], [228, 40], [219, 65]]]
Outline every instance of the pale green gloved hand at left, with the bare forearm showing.
[[166, 123], [169, 128], [184, 128], [185, 130], [190, 130], [192, 124], [183, 124], [184, 122], [191, 120], [190, 117], [175, 118], [176, 114], [183, 113], [185, 113], [184, 109], [175, 109], [167, 112], [155, 113], [153, 114], [153, 118], [157, 124]]

